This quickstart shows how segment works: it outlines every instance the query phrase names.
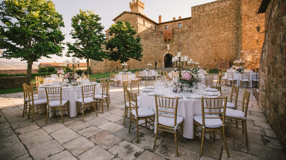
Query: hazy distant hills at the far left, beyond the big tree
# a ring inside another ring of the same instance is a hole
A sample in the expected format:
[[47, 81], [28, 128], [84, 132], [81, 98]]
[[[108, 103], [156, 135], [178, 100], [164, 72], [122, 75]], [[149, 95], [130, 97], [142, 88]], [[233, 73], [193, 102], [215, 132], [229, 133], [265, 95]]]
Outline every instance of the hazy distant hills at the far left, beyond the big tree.
[[[38, 69], [39, 64], [40, 64], [39, 62], [34, 63], [32, 65], [32, 69]], [[7, 70], [7, 69], [27, 69], [27, 63], [0, 60], [0, 70]]]

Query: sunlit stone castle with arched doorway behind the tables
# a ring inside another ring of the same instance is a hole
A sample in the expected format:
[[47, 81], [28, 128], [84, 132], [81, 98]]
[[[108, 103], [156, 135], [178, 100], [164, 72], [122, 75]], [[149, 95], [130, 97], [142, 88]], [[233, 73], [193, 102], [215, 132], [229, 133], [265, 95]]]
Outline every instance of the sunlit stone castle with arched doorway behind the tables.
[[[233, 65], [233, 61], [239, 58], [246, 60], [247, 68], [257, 68], [263, 34], [257, 33], [255, 29], [257, 23], [264, 24], [264, 20], [261, 20], [263, 15], [255, 14], [259, 1], [261, 0], [214, 1], [192, 7], [191, 18], [157, 24], [140, 14], [127, 12], [120, 15], [115, 23], [118, 20], [129, 21], [139, 33], [137, 36], [140, 36], [143, 45], [142, 61], [131, 59], [127, 62], [128, 68], [142, 69], [148, 63], [152, 64], [150, 68], [155, 68], [155, 60], [157, 67], [164, 67], [165, 55], [175, 56], [179, 51], [199, 62], [203, 68], [217, 69], [218, 62], [225, 60]], [[242, 13], [252, 17], [248, 18]], [[138, 19], [139, 24], [136, 23]], [[181, 23], [181, 29], [178, 29], [178, 23]], [[165, 25], [168, 29], [165, 29]], [[170, 45], [169, 50], [167, 44]], [[92, 73], [113, 71], [116, 66], [121, 68], [119, 62], [107, 60], [92, 61], [91, 66]]]

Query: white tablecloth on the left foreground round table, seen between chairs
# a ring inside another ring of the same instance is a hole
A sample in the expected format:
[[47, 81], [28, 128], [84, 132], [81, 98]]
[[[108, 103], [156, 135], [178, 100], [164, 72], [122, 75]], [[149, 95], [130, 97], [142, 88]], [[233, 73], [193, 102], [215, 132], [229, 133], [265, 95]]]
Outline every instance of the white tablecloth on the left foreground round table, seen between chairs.
[[[95, 94], [101, 94], [100, 84], [95, 86]], [[47, 98], [45, 88], [38, 88], [38, 99]], [[76, 100], [82, 98], [82, 88], [71, 88], [71, 89], [62, 89], [62, 99], [69, 101], [69, 116], [76, 117]], [[60, 115], [61, 112], [56, 112], [56, 115]], [[64, 112], [67, 114], [67, 111]], [[53, 117], [54, 112], [49, 114], [49, 117]]]

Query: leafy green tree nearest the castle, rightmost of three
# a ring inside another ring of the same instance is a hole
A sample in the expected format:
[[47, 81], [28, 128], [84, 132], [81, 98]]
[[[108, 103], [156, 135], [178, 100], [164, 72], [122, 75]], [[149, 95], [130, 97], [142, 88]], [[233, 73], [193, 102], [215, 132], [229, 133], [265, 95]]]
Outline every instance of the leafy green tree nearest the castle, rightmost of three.
[[108, 60], [120, 60], [120, 63], [123, 63], [132, 58], [141, 61], [143, 45], [140, 37], [134, 37], [137, 32], [128, 21], [117, 21], [116, 24], [112, 24], [108, 34], [114, 35], [105, 45], [108, 50]]

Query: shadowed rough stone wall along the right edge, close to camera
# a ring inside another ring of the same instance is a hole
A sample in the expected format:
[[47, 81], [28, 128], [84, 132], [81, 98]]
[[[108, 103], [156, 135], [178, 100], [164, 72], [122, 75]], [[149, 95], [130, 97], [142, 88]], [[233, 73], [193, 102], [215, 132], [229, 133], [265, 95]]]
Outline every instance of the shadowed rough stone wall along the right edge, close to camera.
[[259, 105], [284, 149], [286, 149], [285, 24], [285, 0], [269, 1], [265, 12], [265, 42], [260, 58]]

